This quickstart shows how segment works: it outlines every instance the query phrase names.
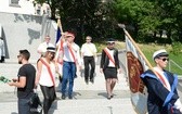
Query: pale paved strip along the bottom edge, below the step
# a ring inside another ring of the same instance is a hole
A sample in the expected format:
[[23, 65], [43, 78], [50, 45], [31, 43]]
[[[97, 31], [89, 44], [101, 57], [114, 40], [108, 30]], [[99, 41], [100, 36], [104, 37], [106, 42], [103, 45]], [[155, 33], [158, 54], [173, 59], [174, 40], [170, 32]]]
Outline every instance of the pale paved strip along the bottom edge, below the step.
[[[0, 102], [0, 114], [17, 114], [16, 102]], [[49, 114], [135, 114], [129, 99], [55, 101]]]

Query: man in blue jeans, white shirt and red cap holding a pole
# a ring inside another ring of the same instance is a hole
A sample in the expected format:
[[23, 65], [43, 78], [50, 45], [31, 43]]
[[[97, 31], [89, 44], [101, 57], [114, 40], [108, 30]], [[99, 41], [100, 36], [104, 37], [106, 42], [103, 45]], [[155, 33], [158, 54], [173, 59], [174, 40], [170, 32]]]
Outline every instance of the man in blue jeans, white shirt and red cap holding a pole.
[[76, 77], [77, 65], [81, 68], [80, 48], [74, 42], [75, 34], [67, 31], [66, 41], [63, 43], [63, 77], [62, 77], [62, 99], [66, 98], [68, 83], [68, 98], [73, 99], [74, 79]]

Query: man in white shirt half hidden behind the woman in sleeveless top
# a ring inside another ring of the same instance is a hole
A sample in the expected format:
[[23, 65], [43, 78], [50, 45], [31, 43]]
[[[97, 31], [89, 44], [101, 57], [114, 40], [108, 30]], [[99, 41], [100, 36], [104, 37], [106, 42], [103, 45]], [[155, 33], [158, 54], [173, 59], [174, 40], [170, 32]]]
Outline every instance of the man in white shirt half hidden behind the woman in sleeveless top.
[[54, 45], [52, 45], [52, 43], [50, 42], [50, 40], [51, 40], [50, 36], [47, 35], [47, 36], [44, 37], [44, 41], [39, 45], [39, 47], [38, 47], [38, 49], [37, 49], [37, 52], [38, 52], [41, 56], [43, 56], [43, 55], [46, 54], [48, 46], [50, 46], [50, 47], [54, 46]]

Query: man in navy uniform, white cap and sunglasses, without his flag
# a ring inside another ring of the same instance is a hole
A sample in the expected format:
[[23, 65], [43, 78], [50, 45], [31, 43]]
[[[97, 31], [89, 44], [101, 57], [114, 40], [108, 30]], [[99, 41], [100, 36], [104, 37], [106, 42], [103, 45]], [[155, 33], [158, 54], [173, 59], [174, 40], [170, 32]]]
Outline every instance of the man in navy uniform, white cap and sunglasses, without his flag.
[[156, 66], [153, 72], [148, 69], [141, 75], [148, 92], [148, 114], [182, 114], [182, 104], [177, 91], [177, 75], [165, 69], [168, 56], [164, 49], [155, 51], [153, 60]]

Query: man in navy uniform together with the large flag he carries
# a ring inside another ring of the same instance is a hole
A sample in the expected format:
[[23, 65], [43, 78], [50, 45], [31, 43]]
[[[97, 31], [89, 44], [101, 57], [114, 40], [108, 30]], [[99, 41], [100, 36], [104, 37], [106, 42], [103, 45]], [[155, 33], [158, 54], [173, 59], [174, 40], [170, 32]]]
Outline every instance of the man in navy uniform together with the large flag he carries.
[[[125, 29], [125, 25], [119, 25], [119, 27], [123, 28], [127, 37], [127, 47], [134, 56], [127, 60], [129, 60], [129, 80], [134, 83], [133, 85], [130, 83], [130, 90], [132, 92], [131, 101], [136, 113], [146, 114], [145, 105], [147, 103], [148, 114], [182, 114], [182, 104], [177, 92], [178, 78], [176, 75], [165, 69], [168, 63], [167, 51], [158, 50], [154, 52], [153, 60], [155, 61], [156, 66], [153, 67]], [[127, 52], [127, 58], [128, 54], [129, 53]], [[134, 64], [134, 62], [136, 64]], [[136, 67], [133, 69], [133, 66]], [[145, 72], [143, 73], [143, 71]], [[141, 77], [144, 85], [139, 77]], [[145, 93], [145, 87], [147, 88], [147, 93]]]

